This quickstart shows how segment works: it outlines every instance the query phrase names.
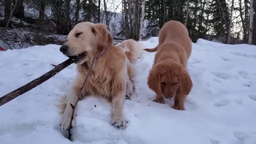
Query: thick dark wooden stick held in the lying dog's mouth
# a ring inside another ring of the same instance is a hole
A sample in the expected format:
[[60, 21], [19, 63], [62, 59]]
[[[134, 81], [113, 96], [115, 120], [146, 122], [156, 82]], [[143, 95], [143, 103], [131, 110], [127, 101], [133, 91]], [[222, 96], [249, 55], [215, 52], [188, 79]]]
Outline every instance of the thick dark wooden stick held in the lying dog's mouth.
[[34, 89], [37, 85], [42, 84], [43, 82], [47, 81], [52, 76], [59, 73], [62, 69], [68, 67], [74, 60], [68, 59], [62, 63], [60, 63], [57, 67], [53, 68], [52, 70], [48, 71], [41, 77], [34, 79], [33, 81], [27, 83], [26, 85], [21, 86], [19, 89], [14, 90], [3, 97], [0, 98], [0, 106], [4, 105], [5, 103], [17, 98], [19, 95], [28, 92], [31, 89]]

